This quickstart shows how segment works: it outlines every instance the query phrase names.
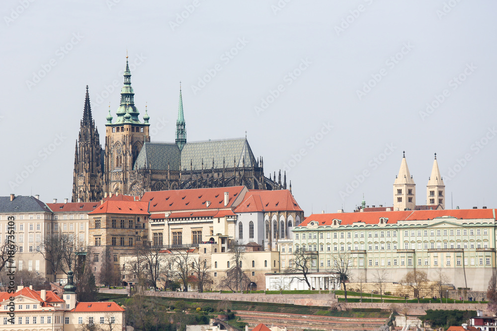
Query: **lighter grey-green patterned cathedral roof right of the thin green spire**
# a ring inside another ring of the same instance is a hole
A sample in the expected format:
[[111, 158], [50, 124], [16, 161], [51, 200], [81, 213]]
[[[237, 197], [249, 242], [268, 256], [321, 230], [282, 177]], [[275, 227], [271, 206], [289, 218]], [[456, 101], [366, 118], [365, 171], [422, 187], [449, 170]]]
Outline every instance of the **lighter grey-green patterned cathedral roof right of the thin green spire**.
[[257, 165], [247, 138], [190, 142], [181, 151], [181, 169], [190, 170], [190, 160], [193, 170], [202, 169], [202, 159], [204, 169], [212, 168], [213, 159], [214, 169], [223, 168], [223, 159], [227, 168], [233, 167], [235, 161], [241, 167], [244, 158], [246, 167]]

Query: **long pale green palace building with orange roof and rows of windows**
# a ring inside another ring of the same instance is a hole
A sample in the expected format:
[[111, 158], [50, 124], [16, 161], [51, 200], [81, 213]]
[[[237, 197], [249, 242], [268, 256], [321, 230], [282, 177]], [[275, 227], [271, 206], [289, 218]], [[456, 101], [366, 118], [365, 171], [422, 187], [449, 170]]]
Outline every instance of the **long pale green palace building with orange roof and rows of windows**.
[[294, 228], [294, 251], [316, 252], [313, 265], [332, 269], [333, 256], [350, 261], [367, 281], [386, 270], [388, 282], [407, 272], [438, 270], [457, 287], [485, 291], [496, 268], [495, 209], [401, 210], [312, 214]]

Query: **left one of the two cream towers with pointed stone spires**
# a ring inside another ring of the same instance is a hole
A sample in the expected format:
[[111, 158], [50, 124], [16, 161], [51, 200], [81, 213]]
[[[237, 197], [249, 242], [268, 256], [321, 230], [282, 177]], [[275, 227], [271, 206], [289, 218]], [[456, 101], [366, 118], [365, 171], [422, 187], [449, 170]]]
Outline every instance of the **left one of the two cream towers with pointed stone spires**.
[[416, 184], [409, 172], [406, 152], [402, 157], [399, 175], [394, 182], [394, 210], [414, 210], [416, 206]]

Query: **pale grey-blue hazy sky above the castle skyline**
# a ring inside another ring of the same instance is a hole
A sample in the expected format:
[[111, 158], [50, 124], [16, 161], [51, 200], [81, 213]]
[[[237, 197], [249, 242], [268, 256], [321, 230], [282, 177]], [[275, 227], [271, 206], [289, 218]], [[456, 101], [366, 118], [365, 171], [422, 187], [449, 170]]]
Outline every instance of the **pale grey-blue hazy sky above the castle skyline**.
[[[0, 195], [71, 199], [89, 86], [104, 143], [128, 52], [153, 141], [247, 134], [311, 212], [393, 204], [403, 151], [426, 203], [497, 206], [497, 2], [3, 0]], [[140, 116], [140, 119], [141, 119]], [[246, 133], [247, 132], [247, 133]]]

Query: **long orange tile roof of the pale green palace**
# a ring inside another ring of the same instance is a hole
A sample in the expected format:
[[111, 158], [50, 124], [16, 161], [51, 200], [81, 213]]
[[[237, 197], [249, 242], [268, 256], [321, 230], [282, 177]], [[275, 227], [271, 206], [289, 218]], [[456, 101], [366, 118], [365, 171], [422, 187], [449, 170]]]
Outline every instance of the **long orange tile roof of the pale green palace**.
[[341, 220], [340, 225], [352, 225], [355, 222], [378, 224], [380, 217], [388, 218], [388, 224], [395, 224], [398, 221], [428, 220], [442, 216], [458, 219], [494, 219], [494, 212], [493, 209], [447, 209], [312, 214], [300, 226], [307, 226], [311, 221], [317, 221], [319, 225], [331, 225], [335, 218]]

